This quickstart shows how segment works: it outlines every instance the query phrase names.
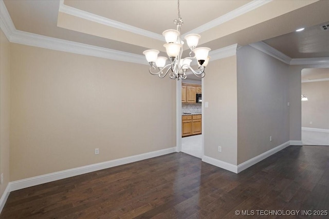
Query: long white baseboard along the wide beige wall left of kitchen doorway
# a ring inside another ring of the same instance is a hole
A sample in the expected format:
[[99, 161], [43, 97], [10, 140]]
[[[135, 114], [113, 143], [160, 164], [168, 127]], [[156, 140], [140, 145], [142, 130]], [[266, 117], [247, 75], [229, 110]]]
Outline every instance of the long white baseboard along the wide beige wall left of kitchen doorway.
[[176, 152], [176, 147], [167, 148], [158, 151], [152, 151], [148, 153], [138, 154], [134, 156], [119, 158], [112, 161], [106, 161], [98, 164], [87, 165], [83, 167], [63, 170], [59, 172], [49, 173], [45, 175], [35, 176], [31, 178], [25, 178], [23, 180], [14, 181], [9, 183], [10, 191], [15, 191], [19, 189], [24, 189], [31, 186], [36, 186], [44, 183], [49, 183], [56, 180], [62, 180], [63, 178], [81, 175], [84, 173], [94, 172], [97, 170], [102, 170], [110, 167], [115, 167], [123, 164], [129, 164], [137, 161], [142, 161], [156, 156], [161, 156], [169, 153]]

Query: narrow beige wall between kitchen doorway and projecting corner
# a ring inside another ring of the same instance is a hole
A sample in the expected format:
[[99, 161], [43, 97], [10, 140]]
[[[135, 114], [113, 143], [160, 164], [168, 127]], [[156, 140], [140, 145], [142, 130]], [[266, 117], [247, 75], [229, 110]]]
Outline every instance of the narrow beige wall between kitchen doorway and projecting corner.
[[[211, 62], [204, 78], [203, 102], [205, 155], [236, 165], [237, 102], [236, 56]], [[222, 152], [218, 152], [218, 146]]]

